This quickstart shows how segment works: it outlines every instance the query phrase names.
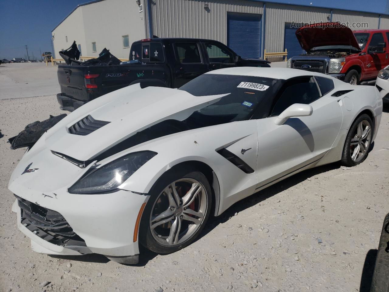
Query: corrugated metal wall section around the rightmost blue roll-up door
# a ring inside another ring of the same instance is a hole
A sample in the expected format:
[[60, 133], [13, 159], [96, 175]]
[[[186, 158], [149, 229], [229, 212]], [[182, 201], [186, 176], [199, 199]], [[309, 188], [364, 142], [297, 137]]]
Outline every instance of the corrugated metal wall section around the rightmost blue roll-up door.
[[[266, 51], [284, 51], [285, 23], [293, 21], [295, 23], [327, 22], [330, 12], [330, 9], [317, 7], [266, 3]], [[269, 60], [272, 61], [272, 58]]]

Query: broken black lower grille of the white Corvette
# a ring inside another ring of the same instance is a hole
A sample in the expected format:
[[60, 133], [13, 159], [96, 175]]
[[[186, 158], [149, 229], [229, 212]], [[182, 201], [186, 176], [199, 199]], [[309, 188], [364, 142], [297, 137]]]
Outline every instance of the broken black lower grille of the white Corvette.
[[86, 246], [60, 213], [15, 197], [21, 209], [21, 223], [35, 235], [54, 245]]

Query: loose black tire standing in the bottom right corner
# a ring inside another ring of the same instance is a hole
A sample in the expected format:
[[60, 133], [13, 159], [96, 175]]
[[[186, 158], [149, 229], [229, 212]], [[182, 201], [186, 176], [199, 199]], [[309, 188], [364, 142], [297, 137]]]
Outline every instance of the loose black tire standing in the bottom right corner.
[[370, 292], [389, 292], [389, 213], [382, 226]]

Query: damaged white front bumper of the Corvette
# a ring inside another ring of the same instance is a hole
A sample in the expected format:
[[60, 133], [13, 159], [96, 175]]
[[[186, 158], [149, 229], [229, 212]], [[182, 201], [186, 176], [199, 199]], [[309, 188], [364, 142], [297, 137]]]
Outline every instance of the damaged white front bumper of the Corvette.
[[53, 240], [53, 233], [47, 235], [46, 229], [37, 228], [37, 222], [26, 222], [17, 199], [12, 211], [17, 213], [19, 230], [31, 239], [33, 251], [54, 255], [99, 253], [120, 263], [138, 262], [139, 248], [138, 241], [133, 242], [134, 230], [140, 206], [147, 202], [148, 196], [119, 190], [104, 195], [58, 193], [50, 198], [33, 193], [23, 197], [35, 202], [33, 204], [39, 208], [63, 215], [77, 235], [77, 240], [66, 244], [56, 240], [57, 234]]

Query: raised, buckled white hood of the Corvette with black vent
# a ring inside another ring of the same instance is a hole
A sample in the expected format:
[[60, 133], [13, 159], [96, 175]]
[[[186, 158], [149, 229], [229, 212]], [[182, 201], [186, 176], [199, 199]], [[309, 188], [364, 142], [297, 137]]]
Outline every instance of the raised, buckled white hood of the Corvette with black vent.
[[[161, 121], [185, 120], [194, 111], [217, 102], [223, 96], [196, 97], [178, 89], [141, 89], [139, 84], [134, 84], [79, 107], [49, 129], [41, 139], [51, 151], [88, 161]], [[87, 135], [71, 134], [71, 128], [82, 125], [80, 121], [87, 116], [101, 122], [101, 127]]]

